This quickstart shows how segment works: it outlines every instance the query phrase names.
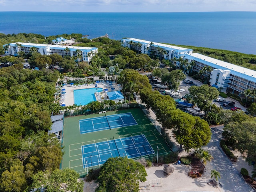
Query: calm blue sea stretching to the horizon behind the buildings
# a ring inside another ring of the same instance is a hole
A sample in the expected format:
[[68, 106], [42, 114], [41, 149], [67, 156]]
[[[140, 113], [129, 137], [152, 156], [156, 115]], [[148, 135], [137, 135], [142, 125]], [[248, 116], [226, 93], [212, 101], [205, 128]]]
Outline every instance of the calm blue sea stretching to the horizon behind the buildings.
[[0, 12], [0, 33], [82, 33], [256, 54], [256, 12]]

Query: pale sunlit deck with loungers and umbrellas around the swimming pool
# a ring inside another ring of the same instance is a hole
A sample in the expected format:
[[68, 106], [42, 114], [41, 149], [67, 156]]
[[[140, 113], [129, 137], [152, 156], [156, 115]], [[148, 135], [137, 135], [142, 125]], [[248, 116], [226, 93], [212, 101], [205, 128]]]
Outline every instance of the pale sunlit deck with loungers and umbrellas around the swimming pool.
[[[97, 83], [97, 87], [98, 88], [102, 88], [102, 89], [108, 89], [108, 92], [111, 91], [111, 88], [115, 88], [115, 91], [119, 90], [120, 85], [118, 84], [114, 84], [110, 87], [108, 84], [106, 83]], [[66, 85], [64, 87], [62, 87], [64, 89], [66, 89], [66, 94], [65, 96], [62, 97], [63, 102], [61, 102], [60, 104], [65, 104], [66, 106], [72, 106], [74, 105], [74, 90], [77, 89], [88, 89], [88, 88], [95, 88], [95, 83], [94, 84], [88, 84], [88, 85], [80, 85], [80, 86], [71, 86], [71, 85]], [[103, 100], [107, 99], [107, 94], [106, 92], [102, 91], [100, 92], [101, 97], [104, 98]], [[97, 98], [97, 97], [96, 97]]]

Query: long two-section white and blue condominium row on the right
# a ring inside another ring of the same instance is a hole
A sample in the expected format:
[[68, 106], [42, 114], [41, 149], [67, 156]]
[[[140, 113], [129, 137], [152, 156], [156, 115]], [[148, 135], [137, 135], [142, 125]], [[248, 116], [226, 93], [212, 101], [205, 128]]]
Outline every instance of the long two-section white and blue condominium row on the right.
[[[210, 85], [222, 88], [224, 92], [240, 94], [245, 90], [254, 90], [256, 88], [256, 71], [193, 53], [192, 49], [135, 38], [122, 39], [121, 43], [122, 46], [140, 53], [155, 55], [160, 59], [172, 60], [177, 68], [183, 65], [181, 61], [185, 61], [189, 66], [187, 67], [189, 71], [204, 71], [202, 75], [210, 77]], [[203, 70], [205, 67], [209, 67], [208, 70]]]

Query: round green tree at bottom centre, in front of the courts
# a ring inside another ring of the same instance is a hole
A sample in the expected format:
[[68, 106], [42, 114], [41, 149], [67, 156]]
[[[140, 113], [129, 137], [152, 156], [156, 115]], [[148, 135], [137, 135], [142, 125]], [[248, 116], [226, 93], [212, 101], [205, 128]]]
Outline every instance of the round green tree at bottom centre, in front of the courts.
[[127, 157], [109, 158], [98, 177], [97, 192], [139, 192], [139, 181], [146, 181], [142, 164]]

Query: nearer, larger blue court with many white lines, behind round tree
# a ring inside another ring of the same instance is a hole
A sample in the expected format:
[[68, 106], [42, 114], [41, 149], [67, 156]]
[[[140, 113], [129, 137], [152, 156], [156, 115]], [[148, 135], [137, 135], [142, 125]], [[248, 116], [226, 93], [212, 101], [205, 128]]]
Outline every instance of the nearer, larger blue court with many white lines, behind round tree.
[[110, 157], [143, 157], [154, 154], [144, 134], [82, 146], [83, 168], [102, 165]]

